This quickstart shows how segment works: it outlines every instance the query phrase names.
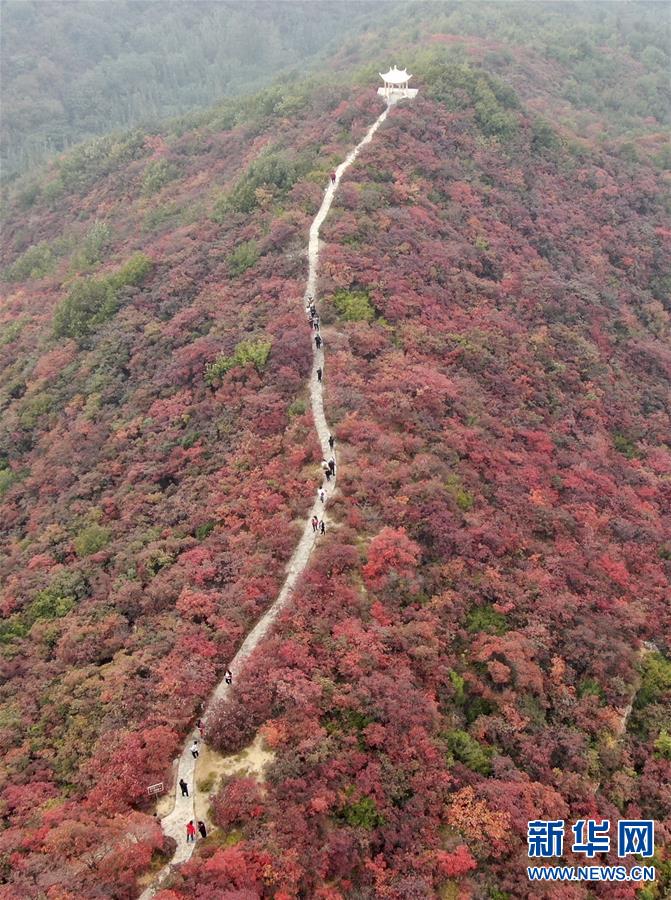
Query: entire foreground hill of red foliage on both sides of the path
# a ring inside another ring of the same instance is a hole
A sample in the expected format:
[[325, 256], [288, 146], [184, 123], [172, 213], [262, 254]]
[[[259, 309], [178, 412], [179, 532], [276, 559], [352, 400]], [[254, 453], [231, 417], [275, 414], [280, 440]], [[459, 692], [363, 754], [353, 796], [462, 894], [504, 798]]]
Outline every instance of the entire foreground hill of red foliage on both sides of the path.
[[[516, 92], [468, 48], [418, 52], [419, 98], [325, 224], [339, 527], [208, 736], [229, 752], [262, 728], [265, 786], [217, 789], [218, 830], [165, 900], [522, 897], [528, 818], [619, 813], [657, 820], [643, 896], [666, 889], [661, 160], [556, 130], [522, 96], [542, 85], [518, 71]], [[313, 495], [307, 227], [379, 103], [370, 82], [271, 89], [78, 148], [11, 199], [15, 896], [131, 897], [165, 849], [146, 786]]]

